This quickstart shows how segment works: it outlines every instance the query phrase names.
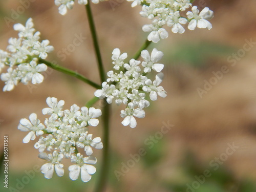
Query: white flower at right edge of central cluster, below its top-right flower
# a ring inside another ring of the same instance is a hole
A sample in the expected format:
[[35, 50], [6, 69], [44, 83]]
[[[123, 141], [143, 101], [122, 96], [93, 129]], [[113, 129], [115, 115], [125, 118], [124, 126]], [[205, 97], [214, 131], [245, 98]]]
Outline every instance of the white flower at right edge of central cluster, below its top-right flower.
[[159, 86], [159, 84], [163, 80], [163, 74], [159, 73], [156, 75], [156, 80], [153, 81], [151, 79], [147, 79], [145, 81], [146, 86], [143, 86], [143, 91], [150, 92], [150, 99], [155, 101], [157, 100], [157, 95], [160, 97], [166, 97], [166, 92], [164, 91], [162, 86]]

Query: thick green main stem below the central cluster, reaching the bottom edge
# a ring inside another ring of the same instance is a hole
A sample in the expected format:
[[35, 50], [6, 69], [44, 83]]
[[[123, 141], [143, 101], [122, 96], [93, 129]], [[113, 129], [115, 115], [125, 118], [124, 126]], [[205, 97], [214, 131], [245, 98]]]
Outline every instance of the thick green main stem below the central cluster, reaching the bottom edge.
[[106, 188], [108, 181], [109, 167], [110, 167], [110, 153], [109, 153], [109, 122], [110, 122], [110, 104], [106, 103], [102, 109], [103, 122], [103, 154], [98, 183], [96, 183], [95, 192], [102, 192]]

